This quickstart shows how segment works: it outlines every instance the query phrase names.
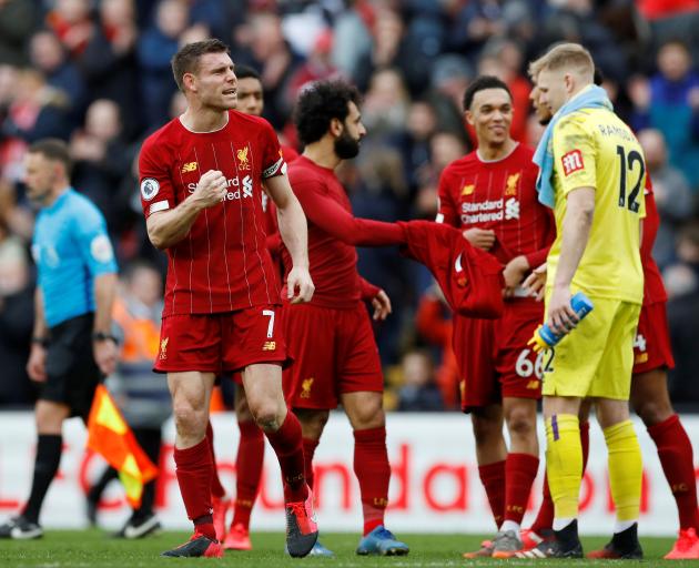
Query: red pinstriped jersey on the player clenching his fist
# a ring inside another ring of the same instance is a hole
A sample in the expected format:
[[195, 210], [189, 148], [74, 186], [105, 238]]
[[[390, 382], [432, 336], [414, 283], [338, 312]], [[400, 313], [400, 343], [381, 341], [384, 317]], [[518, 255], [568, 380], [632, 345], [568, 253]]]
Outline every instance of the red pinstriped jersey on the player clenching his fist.
[[143, 213], [176, 207], [209, 170], [223, 172], [229, 193], [168, 248], [163, 316], [280, 303], [266, 247], [262, 181], [285, 173], [286, 164], [264, 119], [229, 111], [221, 130], [195, 133], [178, 118], [151, 134], [139, 161]]

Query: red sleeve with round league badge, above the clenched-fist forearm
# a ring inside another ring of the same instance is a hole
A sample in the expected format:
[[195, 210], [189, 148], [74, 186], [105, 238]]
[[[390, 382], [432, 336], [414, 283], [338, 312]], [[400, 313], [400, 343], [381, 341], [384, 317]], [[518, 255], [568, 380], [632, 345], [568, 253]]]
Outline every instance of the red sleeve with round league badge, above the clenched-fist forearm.
[[148, 219], [152, 213], [174, 209], [174, 187], [170, 179], [170, 160], [153, 139], [148, 139], [139, 155], [141, 206]]

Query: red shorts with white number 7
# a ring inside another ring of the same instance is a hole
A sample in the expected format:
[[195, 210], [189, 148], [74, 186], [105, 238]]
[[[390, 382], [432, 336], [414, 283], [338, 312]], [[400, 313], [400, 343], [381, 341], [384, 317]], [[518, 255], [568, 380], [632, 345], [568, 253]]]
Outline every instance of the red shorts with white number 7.
[[287, 362], [281, 306], [163, 318], [153, 371], [233, 373], [254, 363]]

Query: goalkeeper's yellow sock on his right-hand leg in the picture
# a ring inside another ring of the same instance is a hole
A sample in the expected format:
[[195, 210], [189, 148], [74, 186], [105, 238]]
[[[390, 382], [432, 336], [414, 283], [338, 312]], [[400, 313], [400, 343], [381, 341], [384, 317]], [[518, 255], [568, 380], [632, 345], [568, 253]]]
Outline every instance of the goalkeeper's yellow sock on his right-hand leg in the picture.
[[617, 521], [638, 519], [642, 464], [638, 438], [631, 420], [605, 428], [609, 453], [609, 486], [617, 509]]

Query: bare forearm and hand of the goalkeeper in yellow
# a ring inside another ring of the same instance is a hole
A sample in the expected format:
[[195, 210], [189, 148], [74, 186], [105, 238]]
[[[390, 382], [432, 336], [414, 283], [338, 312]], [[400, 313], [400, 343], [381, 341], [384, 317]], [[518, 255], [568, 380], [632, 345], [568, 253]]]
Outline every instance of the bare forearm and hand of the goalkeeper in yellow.
[[568, 193], [563, 221], [560, 256], [554, 277], [547, 323], [557, 334], [568, 333], [578, 321], [570, 307], [570, 282], [587, 246], [595, 215], [595, 187], [577, 187]]

